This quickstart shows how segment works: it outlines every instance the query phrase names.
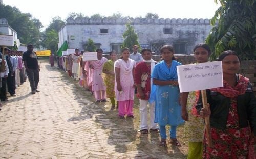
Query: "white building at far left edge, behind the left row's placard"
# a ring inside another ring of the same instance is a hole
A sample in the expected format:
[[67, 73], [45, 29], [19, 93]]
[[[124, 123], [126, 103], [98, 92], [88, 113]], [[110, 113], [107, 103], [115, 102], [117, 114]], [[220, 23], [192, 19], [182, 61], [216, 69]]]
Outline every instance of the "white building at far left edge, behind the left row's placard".
[[5, 18], [0, 19], [0, 34], [13, 35], [13, 41], [16, 41], [17, 46], [20, 45], [17, 32], [8, 25], [8, 22]]

